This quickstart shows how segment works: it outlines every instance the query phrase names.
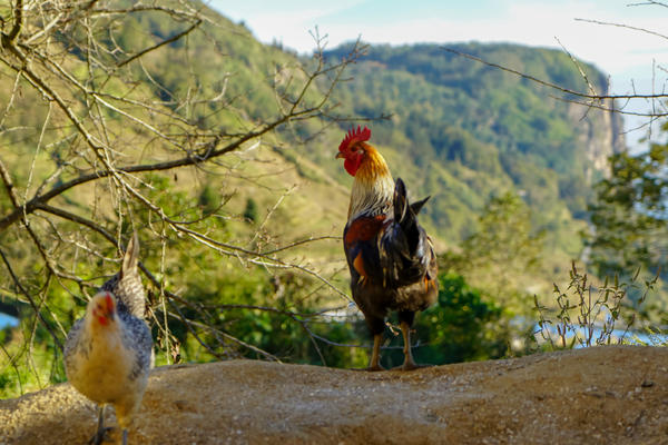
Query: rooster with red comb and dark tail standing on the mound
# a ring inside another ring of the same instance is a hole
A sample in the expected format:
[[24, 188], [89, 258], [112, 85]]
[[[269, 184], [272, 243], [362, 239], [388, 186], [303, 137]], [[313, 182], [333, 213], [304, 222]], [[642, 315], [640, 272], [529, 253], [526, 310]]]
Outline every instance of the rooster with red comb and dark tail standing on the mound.
[[402, 369], [418, 367], [411, 353], [411, 326], [415, 312], [431, 306], [438, 296], [436, 258], [430, 238], [418, 224], [429, 199], [409, 204], [401, 178], [396, 184], [385, 159], [366, 141], [371, 130], [351, 129], [336, 158], [353, 176], [353, 190], [343, 246], [351, 271], [353, 299], [373, 335], [369, 370], [380, 370], [385, 317], [396, 310], [404, 340]]

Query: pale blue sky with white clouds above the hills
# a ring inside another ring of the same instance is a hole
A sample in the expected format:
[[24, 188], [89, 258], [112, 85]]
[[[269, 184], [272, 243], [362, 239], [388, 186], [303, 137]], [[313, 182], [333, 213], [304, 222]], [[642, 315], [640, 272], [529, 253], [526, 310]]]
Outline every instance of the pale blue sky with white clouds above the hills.
[[[209, 0], [208, 4], [244, 21], [263, 42], [278, 41], [301, 53], [315, 44], [317, 26], [327, 48], [361, 36], [370, 43], [515, 42], [566, 48], [610, 75], [616, 93], [668, 90], [668, 0]], [[596, 20], [657, 34], [597, 24]], [[664, 32], [664, 33], [662, 33]], [[662, 34], [661, 34], [662, 33]], [[647, 111], [651, 103], [636, 102]], [[627, 128], [644, 122], [627, 119]], [[655, 127], [656, 129], [656, 127]], [[633, 139], [646, 131], [628, 135]]]

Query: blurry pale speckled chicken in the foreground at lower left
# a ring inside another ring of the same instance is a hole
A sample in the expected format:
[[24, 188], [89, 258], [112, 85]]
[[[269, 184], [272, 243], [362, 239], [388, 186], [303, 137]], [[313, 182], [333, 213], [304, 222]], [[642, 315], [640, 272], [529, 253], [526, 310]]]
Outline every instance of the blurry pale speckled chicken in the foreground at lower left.
[[105, 405], [111, 404], [127, 445], [128, 426], [141, 403], [153, 367], [150, 329], [144, 320], [146, 293], [137, 270], [139, 241], [132, 236], [120, 271], [88, 301], [86, 315], [70, 329], [65, 370], [70, 384], [99, 405], [98, 429], [90, 439], [101, 444]]

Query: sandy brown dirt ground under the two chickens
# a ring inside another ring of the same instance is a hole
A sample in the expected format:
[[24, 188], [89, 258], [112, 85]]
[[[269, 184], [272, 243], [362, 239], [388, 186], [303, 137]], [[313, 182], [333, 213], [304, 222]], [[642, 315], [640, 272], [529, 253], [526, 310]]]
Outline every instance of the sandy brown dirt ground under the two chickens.
[[[0, 400], [0, 444], [85, 444], [95, 428], [95, 406], [68, 384]], [[410, 373], [254, 360], [161, 367], [129, 443], [668, 444], [668, 348]]]

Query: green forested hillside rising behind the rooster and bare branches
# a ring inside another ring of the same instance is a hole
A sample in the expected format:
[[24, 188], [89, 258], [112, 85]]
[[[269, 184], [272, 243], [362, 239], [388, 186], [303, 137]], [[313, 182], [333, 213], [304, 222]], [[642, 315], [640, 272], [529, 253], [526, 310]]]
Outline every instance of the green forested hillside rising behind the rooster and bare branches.
[[[528, 289], [580, 254], [578, 218], [622, 147], [619, 118], [438, 46], [301, 57], [200, 2], [12, 4], [0, 1], [7, 23], [23, 21], [0, 46], [0, 300], [21, 325], [0, 333], [0, 395], [65, 379], [67, 330], [134, 230], [158, 364], [362, 366], [340, 238], [351, 178], [334, 159], [357, 123], [413, 197], [432, 196], [421, 218], [442, 291], [416, 357], [504, 356], [533, 328]], [[558, 51], [455, 48], [588, 88]], [[497, 230], [503, 243], [475, 237]], [[461, 251], [503, 255], [464, 258], [493, 290], [450, 267]]]

